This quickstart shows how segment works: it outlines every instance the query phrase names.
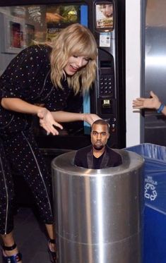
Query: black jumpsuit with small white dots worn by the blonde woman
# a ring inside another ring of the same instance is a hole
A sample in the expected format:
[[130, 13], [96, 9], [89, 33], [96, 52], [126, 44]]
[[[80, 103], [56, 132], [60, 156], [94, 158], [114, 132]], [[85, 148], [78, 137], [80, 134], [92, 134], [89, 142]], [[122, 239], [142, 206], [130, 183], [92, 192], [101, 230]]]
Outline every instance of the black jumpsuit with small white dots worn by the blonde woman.
[[[35, 45], [14, 58], [0, 78], [0, 95], [16, 97], [31, 104], [45, 104], [50, 111], [63, 110], [70, 89], [52, 85], [49, 55], [51, 48]], [[53, 223], [50, 201], [51, 176], [32, 133], [32, 116], [0, 106], [0, 233], [13, 230], [13, 179], [11, 171], [23, 176], [35, 197], [40, 217]]]

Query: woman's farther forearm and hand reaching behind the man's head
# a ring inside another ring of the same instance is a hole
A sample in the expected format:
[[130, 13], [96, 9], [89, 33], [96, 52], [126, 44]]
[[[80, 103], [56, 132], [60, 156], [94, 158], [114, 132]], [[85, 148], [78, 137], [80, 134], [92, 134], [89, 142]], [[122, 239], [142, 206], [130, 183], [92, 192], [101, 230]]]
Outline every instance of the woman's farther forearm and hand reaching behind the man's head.
[[77, 114], [68, 111], [54, 111], [52, 112], [54, 120], [57, 122], [71, 122], [71, 121], [85, 121], [90, 124], [93, 124], [94, 121], [98, 120], [100, 117], [96, 114]]

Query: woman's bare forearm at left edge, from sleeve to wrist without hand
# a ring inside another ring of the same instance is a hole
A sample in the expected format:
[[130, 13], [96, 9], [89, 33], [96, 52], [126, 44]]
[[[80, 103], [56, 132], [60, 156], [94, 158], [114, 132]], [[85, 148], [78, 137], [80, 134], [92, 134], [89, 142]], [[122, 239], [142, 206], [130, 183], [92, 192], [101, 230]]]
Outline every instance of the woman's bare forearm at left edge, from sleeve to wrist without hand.
[[16, 111], [22, 114], [37, 114], [42, 109], [40, 106], [35, 106], [17, 98], [3, 98], [1, 99], [1, 106], [9, 111]]

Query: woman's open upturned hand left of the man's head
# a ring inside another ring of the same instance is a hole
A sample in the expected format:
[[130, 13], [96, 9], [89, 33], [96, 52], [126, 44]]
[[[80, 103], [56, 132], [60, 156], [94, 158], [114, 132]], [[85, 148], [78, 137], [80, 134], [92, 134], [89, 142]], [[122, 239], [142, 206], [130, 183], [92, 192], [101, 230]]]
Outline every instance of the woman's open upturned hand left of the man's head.
[[54, 126], [63, 129], [61, 124], [54, 121], [54, 118], [50, 111], [46, 108], [42, 108], [37, 112], [37, 116], [40, 118], [40, 126], [47, 131], [47, 134], [52, 133], [52, 135], [59, 135], [59, 132]]

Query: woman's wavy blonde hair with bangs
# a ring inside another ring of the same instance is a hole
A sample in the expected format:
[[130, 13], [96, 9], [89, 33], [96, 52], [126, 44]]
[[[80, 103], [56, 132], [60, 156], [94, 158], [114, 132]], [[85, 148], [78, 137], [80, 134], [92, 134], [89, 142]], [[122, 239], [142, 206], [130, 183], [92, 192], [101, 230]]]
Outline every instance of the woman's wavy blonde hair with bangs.
[[51, 47], [51, 79], [54, 85], [63, 88], [61, 78], [70, 56], [85, 56], [89, 59], [88, 64], [74, 75], [66, 75], [66, 79], [75, 94], [88, 91], [95, 80], [97, 59], [97, 44], [90, 30], [78, 23], [69, 25], [53, 39]]

